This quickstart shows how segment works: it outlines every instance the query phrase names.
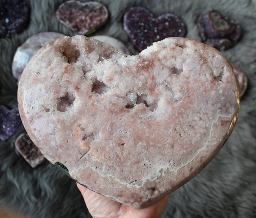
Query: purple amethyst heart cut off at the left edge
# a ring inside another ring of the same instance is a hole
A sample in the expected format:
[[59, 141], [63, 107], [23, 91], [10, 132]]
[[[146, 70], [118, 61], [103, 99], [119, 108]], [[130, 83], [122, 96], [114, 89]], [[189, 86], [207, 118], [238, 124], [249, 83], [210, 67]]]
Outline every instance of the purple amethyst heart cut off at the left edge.
[[0, 139], [2, 141], [13, 136], [22, 126], [17, 107], [8, 110], [6, 106], [0, 105]]

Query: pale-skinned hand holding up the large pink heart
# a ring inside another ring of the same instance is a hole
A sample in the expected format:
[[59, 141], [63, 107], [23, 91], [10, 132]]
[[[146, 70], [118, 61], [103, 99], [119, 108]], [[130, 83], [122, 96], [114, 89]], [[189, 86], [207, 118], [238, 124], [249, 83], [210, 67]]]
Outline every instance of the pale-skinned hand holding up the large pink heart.
[[77, 183], [77, 187], [82, 193], [84, 202], [94, 218], [100, 217], [135, 217], [135, 218], [156, 218], [160, 217], [168, 201], [169, 195], [142, 209], [134, 209], [127, 205], [115, 202], [100, 194], [97, 194]]

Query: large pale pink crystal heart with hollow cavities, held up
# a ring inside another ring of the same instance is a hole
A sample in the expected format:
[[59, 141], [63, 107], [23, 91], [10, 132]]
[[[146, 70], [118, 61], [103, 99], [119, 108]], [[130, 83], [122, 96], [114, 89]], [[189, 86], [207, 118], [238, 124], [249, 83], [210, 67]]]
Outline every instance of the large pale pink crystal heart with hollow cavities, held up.
[[87, 37], [42, 47], [18, 86], [32, 141], [80, 184], [145, 207], [197, 175], [236, 123], [239, 88], [216, 49], [166, 38], [124, 55]]

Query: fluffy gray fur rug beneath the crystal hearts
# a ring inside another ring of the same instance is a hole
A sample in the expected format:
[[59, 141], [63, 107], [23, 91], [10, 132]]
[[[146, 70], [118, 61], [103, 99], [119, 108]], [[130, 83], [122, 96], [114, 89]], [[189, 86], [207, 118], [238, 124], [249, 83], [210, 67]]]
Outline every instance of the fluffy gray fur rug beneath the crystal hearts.
[[[28, 28], [11, 39], [0, 39], [0, 104], [16, 107], [16, 80], [11, 62], [15, 50], [29, 36], [45, 31], [75, 35], [62, 26], [55, 11], [64, 0], [31, 0]], [[86, 2], [86, 1], [83, 1]], [[248, 76], [237, 125], [217, 157], [198, 176], [170, 194], [162, 217], [256, 217], [256, 1], [255, 0], [98, 0], [109, 12], [108, 23], [94, 35], [122, 40], [138, 53], [122, 27], [124, 13], [133, 6], [156, 16], [174, 13], [186, 24], [187, 38], [200, 40], [196, 21], [208, 9], [238, 19], [243, 36], [223, 54]], [[32, 169], [14, 147], [16, 136], [0, 141], [0, 206], [26, 217], [90, 217], [76, 185], [49, 162]]]

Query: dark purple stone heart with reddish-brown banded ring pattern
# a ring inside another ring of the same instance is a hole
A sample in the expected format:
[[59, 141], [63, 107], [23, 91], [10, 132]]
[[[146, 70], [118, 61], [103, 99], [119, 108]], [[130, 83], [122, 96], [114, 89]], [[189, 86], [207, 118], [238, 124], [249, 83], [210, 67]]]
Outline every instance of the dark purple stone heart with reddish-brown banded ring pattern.
[[239, 22], [223, 16], [219, 11], [209, 10], [197, 21], [202, 41], [218, 50], [225, 50], [236, 45], [241, 37]]

